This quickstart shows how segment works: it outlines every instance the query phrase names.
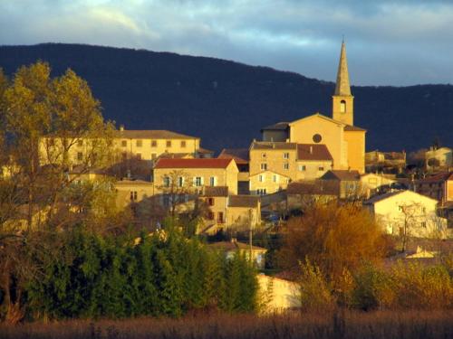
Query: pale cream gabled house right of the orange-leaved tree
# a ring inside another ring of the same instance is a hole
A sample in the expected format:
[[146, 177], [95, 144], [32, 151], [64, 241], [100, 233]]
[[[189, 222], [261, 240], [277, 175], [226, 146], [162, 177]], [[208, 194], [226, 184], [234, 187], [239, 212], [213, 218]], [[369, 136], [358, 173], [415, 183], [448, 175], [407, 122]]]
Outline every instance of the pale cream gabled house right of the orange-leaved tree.
[[396, 191], [377, 195], [364, 204], [389, 234], [402, 234], [406, 228], [410, 237], [445, 237], [447, 220], [437, 215], [435, 199], [412, 191]]

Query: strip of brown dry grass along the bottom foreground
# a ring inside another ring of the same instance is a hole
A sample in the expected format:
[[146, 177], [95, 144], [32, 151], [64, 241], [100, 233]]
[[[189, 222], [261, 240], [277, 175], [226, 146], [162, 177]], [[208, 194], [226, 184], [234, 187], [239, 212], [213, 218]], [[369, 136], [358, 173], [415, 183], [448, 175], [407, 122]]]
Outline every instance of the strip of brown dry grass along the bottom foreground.
[[453, 311], [336, 314], [188, 315], [180, 319], [73, 320], [0, 325], [0, 338], [453, 338]]

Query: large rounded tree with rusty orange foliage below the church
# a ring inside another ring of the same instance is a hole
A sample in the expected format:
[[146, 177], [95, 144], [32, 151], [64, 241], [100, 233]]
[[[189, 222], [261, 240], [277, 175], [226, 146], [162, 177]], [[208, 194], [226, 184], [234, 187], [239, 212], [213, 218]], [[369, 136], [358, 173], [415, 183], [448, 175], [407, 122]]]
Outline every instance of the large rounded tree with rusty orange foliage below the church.
[[353, 270], [363, 260], [378, 262], [386, 253], [386, 238], [369, 212], [357, 204], [316, 204], [288, 221], [280, 250], [282, 266], [297, 270], [311, 260], [329, 279]]

